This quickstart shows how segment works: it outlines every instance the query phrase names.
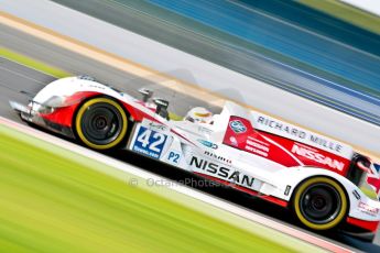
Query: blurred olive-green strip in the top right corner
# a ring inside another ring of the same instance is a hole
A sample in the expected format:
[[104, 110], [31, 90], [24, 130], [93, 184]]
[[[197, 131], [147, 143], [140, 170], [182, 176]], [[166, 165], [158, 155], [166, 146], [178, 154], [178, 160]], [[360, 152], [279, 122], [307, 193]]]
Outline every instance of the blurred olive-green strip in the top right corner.
[[298, 0], [300, 3], [380, 34], [379, 18], [336, 0]]

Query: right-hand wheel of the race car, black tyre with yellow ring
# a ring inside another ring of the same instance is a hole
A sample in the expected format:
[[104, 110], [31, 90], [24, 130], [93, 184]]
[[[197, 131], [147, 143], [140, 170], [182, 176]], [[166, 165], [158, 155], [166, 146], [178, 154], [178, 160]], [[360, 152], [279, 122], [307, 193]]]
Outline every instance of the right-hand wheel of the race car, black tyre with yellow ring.
[[313, 177], [302, 183], [292, 205], [298, 220], [314, 230], [335, 228], [348, 208], [345, 190], [327, 177]]

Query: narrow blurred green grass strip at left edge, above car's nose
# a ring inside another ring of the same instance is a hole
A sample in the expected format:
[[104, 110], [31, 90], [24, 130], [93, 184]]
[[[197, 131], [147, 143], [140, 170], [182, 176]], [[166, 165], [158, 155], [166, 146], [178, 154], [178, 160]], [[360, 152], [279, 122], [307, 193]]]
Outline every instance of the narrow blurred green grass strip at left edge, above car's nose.
[[30, 68], [34, 68], [39, 72], [43, 72], [50, 76], [53, 76], [53, 77], [56, 77], [56, 78], [62, 78], [62, 77], [67, 77], [69, 76], [68, 73], [62, 70], [62, 69], [58, 69], [58, 68], [55, 68], [55, 67], [52, 67], [50, 65], [46, 65], [40, 61], [36, 61], [36, 59], [33, 59], [33, 58], [30, 58], [28, 56], [24, 56], [24, 55], [21, 55], [19, 53], [15, 53], [13, 51], [10, 51], [8, 48], [4, 48], [4, 47], [0, 47], [0, 57], [4, 57], [4, 58], [8, 58], [10, 61], [13, 61], [13, 62], [17, 62], [19, 64], [22, 64], [22, 65], [25, 65]]

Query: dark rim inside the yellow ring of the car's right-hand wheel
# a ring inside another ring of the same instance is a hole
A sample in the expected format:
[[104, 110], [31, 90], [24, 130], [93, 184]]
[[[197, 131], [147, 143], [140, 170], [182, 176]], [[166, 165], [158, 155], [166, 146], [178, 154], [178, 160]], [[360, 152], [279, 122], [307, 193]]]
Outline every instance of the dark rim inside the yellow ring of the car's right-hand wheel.
[[308, 186], [301, 195], [300, 209], [310, 222], [325, 224], [338, 217], [341, 199], [333, 186], [315, 184]]

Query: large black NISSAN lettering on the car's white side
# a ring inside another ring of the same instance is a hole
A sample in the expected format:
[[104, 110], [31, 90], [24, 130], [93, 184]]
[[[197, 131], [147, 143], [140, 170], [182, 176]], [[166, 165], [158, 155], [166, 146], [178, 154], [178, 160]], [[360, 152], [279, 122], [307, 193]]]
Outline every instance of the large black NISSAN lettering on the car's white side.
[[222, 165], [213, 163], [205, 158], [197, 157], [195, 155], [191, 157], [189, 165], [196, 172], [207, 174], [207, 175], [224, 179], [226, 182], [231, 182], [231, 183], [242, 185], [242, 186], [248, 186], [251, 188], [253, 186], [254, 179], [251, 176], [237, 172], [231, 167], [225, 167]]

